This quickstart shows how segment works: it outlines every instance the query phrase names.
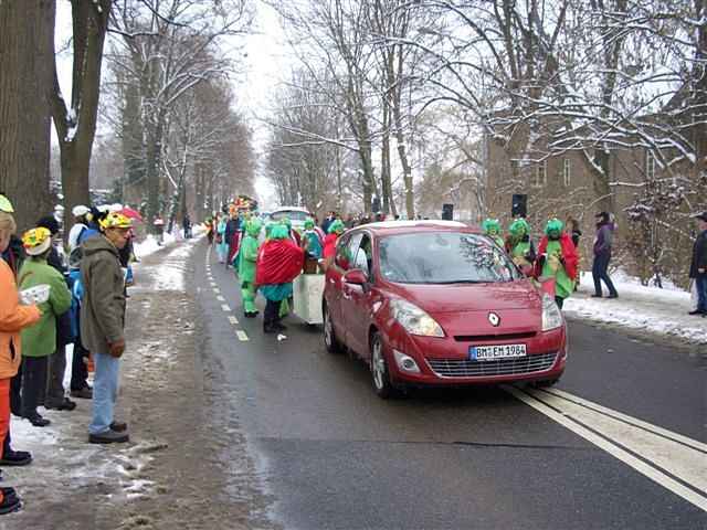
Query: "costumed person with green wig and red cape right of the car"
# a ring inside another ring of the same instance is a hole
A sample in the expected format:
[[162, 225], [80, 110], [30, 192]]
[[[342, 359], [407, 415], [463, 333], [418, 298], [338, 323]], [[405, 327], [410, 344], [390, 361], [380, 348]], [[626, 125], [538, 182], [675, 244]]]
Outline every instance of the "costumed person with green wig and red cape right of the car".
[[562, 221], [551, 219], [538, 245], [534, 276], [555, 278], [555, 301], [562, 309], [564, 299], [574, 290], [579, 255], [572, 239], [563, 231]]

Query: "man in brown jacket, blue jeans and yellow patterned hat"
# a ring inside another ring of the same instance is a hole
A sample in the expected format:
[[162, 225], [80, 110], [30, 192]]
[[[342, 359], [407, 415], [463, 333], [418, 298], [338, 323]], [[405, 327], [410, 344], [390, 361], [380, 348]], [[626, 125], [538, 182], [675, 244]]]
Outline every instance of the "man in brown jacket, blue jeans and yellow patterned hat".
[[93, 420], [88, 442], [127, 442], [127, 425], [114, 418], [118, 396], [120, 357], [125, 351], [125, 277], [118, 250], [128, 240], [130, 220], [109, 213], [102, 222], [102, 235], [84, 243], [81, 279], [81, 338], [94, 360]]

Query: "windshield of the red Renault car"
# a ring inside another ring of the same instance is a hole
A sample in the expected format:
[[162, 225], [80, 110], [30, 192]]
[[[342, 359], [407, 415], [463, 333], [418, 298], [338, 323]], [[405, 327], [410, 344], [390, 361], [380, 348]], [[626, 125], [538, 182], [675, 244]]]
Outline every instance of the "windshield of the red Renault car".
[[520, 273], [488, 237], [457, 232], [423, 232], [383, 237], [380, 273], [401, 284], [513, 282]]

